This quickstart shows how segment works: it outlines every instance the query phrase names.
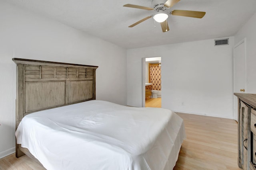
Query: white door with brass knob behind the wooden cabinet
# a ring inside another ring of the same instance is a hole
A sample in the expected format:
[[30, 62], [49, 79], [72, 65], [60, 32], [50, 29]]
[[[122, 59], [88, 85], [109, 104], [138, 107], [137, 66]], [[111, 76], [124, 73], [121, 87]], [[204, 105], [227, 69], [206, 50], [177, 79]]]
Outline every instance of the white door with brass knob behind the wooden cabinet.
[[[246, 92], [246, 41], [240, 41], [234, 47], [233, 53], [233, 91], [234, 93]], [[234, 96], [234, 119], [238, 120], [238, 99]]]

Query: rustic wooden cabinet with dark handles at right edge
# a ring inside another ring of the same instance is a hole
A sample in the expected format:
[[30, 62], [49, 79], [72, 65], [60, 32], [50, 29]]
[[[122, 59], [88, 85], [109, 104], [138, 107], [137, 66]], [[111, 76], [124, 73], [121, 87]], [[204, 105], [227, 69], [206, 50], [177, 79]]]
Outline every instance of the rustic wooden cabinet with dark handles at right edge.
[[238, 97], [238, 166], [256, 170], [256, 94]]

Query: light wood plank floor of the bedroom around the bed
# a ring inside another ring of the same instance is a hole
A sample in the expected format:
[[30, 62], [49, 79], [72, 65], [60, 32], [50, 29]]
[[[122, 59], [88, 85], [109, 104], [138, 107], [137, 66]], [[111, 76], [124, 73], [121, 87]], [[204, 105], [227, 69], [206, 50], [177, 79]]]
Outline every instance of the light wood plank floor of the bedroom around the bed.
[[[237, 123], [222, 119], [178, 113], [184, 119], [187, 139], [174, 170], [241, 170], [237, 166]], [[0, 159], [0, 170], [43, 170], [28, 156], [15, 154]]]

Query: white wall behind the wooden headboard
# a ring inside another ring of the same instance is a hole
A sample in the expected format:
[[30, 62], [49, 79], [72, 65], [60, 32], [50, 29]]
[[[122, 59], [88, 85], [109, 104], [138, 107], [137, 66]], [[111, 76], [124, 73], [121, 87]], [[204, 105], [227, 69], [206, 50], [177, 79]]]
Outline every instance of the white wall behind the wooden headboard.
[[126, 49], [0, 1], [0, 158], [15, 146], [14, 57], [99, 66], [96, 99], [126, 105]]

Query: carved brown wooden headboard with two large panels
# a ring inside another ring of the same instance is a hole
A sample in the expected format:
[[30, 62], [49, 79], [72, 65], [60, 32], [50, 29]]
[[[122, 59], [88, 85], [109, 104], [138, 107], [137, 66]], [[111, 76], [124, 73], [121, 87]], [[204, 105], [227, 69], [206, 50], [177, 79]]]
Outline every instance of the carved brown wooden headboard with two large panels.
[[96, 99], [98, 66], [12, 60], [17, 64], [16, 129], [29, 113]]

